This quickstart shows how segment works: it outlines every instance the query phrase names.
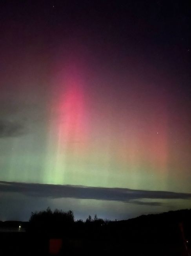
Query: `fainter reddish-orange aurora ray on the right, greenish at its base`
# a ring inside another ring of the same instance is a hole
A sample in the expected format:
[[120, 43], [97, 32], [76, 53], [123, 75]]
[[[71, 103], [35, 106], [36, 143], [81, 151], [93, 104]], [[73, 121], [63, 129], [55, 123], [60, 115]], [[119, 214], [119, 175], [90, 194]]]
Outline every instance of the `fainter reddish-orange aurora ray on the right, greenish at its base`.
[[126, 143], [122, 144], [120, 152], [127, 167], [126, 179], [128, 175], [131, 177], [128, 186], [153, 189], [158, 180], [158, 189], [167, 189], [169, 129], [165, 100], [158, 98], [138, 112], [129, 113], [125, 126]]

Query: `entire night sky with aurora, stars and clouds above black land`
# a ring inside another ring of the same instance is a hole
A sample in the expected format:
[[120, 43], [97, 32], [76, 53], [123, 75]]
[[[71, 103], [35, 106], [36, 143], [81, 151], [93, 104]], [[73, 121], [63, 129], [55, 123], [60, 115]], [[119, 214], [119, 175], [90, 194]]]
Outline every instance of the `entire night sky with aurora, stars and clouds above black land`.
[[0, 1], [0, 220], [191, 208], [190, 13]]

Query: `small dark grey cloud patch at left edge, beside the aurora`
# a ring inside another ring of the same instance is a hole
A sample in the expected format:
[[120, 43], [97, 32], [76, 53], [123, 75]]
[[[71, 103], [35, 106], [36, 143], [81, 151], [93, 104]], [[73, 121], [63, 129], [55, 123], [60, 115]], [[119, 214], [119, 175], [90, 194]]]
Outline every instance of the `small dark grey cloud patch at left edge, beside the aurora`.
[[24, 134], [24, 125], [15, 121], [0, 120], [0, 138]]

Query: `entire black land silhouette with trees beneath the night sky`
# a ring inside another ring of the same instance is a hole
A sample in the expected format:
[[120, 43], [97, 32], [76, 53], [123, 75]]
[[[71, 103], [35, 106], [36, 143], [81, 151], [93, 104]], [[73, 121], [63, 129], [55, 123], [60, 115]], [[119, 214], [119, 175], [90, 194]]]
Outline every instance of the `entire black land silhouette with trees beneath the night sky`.
[[[82, 221], [75, 220], [71, 210], [47, 208], [32, 212], [29, 222], [20, 224], [25, 227], [25, 233], [13, 234], [12, 240], [6, 235], [1, 240], [4, 245], [10, 241], [14, 244], [8, 247], [10, 253], [5, 255], [49, 255], [51, 239], [61, 241], [58, 255], [188, 256], [191, 247], [191, 209], [142, 215], [124, 221], [108, 221], [89, 215]], [[15, 254], [11, 254], [12, 249]]]

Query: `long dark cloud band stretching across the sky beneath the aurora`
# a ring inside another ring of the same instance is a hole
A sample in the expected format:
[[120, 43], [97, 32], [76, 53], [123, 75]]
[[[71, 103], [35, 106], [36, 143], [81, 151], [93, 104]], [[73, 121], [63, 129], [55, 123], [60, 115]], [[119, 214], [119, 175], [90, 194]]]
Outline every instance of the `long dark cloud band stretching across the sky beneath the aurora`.
[[96, 200], [114, 200], [161, 206], [160, 202], [142, 202], [141, 199], [190, 199], [190, 193], [175, 193], [169, 191], [149, 191], [126, 188], [86, 187], [72, 185], [49, 185], [33, 183], [0, 182], [1, 192], [22, 193], [31, 197], [49, 198], [79, 198]]

